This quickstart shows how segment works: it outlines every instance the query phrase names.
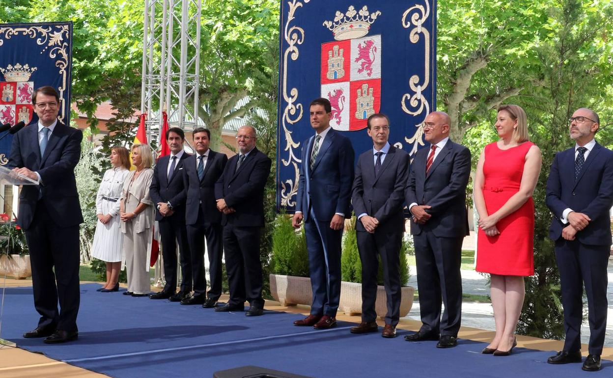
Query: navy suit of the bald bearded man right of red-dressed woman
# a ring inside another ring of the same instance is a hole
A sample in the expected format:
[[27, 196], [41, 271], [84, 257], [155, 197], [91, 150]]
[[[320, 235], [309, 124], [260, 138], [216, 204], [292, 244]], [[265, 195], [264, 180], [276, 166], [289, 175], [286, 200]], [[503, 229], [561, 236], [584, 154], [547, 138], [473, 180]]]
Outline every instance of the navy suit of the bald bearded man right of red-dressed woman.
[[[575, 180], [575, 149], [556, 154], [547, 179], [547, 206], [554, 214], [549, 236], [555, 241], [555, 258], [562, 284], [566, 340], [564, 350], [581, 349], [583, 289], [590, 322], [589, 353], [603, 350], [607, 320], [607, 263], [611, 249], [609, 209], [613, 205], [613, 151], [596, 143]], [[562, 238], [563, 211], [570, 208], [592, 221], [575, 240]]]

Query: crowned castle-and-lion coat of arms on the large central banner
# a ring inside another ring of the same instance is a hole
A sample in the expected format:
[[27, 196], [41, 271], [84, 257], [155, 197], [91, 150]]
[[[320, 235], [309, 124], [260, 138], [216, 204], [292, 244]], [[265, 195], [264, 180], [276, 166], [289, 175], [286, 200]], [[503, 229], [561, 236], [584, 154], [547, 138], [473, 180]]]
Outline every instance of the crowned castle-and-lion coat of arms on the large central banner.
[[336, 130], [365, 129], [381, 108], [381, 35], [368, 36], [379, 15], [350, 6], [324, 21], [335, 41], [321, 45], [321, 97], [330, 100]]

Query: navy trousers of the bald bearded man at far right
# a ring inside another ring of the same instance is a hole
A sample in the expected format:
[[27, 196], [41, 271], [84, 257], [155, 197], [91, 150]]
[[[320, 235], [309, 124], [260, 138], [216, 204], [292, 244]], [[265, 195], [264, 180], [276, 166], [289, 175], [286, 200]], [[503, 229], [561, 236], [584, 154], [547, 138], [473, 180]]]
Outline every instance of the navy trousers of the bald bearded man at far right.
[[609, 246], [590, 246], [577, 240], [558, 239], [555, 259], [562, 284], [564, 308], [564, 350], [581, 350], [581, 320], [583, 316], [583, 285], [587, 296], [590, 343], [588, 352], [603, 352], [607, 324], [607, 264]]

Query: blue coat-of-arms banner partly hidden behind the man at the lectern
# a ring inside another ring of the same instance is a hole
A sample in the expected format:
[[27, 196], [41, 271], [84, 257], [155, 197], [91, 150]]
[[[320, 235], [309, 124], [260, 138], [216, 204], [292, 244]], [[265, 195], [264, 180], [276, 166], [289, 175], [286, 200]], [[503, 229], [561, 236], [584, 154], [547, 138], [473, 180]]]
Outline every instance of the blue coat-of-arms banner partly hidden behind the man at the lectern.
[[[0, 24], [0, 123], [36, 122], [32, 92], [49, 85], [59, 93], [59, 121], [69, 124], [71, 71], [72, 22]], [[11, 141], [0, 140], [0, 165]]]

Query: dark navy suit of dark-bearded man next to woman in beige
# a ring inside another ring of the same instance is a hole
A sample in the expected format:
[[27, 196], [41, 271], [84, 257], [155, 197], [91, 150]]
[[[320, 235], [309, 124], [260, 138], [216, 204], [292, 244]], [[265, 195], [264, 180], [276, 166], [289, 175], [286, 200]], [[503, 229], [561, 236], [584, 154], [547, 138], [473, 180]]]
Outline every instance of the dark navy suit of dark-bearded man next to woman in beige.
[[156, 209], [159, 202], [170, 202], [174, 213], [170, 216], [162, 216], [156, 210], [155, 219], [159, 224], [159, 236], [162, 242], [162, 256], [164, 257], [164, 292], [174, 293], [177, 290], [177, 243], [181, 259], [181, 286], [183, 292], [192, 289], [192, 275], [189, 266], [189, 244], [185, 228], [185, 197], [186, 191], [183, 184], [183, 162], [189, 154], [183, 153], [177, 159], [175, 170], [168, 180], [168, 165], [170, 155], [162, 156], [153, 168], [153, 179], [149, 187], [151, 200]]

